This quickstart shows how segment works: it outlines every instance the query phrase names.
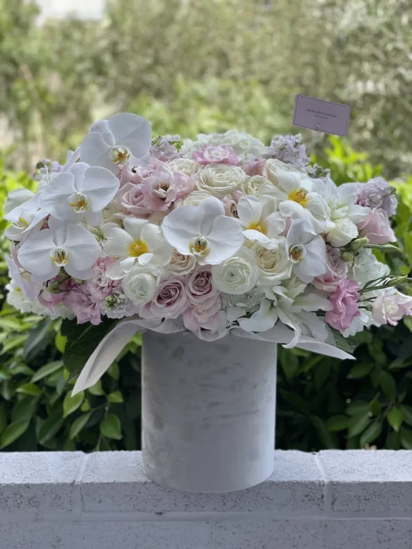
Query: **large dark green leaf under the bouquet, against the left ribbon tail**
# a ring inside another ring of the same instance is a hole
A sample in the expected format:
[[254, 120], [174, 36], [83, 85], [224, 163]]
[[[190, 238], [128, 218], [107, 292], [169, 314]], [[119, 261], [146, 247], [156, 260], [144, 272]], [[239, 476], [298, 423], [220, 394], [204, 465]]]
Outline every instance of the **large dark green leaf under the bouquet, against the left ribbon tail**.
[[94, 326], [78, 325], [76, 320], [63, 320], [61, 334], [67, 337], [64, 361], [71, 377], [76, 377], [80, 373], [91, 353], [116, 322], [115, 319], [105, 318], [104, 322]]

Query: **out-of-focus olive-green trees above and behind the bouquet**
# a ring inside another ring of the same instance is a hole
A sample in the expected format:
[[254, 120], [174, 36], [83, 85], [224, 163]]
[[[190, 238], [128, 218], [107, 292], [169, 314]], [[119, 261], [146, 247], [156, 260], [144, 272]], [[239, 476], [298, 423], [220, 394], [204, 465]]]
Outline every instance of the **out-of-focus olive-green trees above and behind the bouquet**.
[[[350, 143], [385, 176], [411, 173], [411, 19], [410, 0], [107, 0], [102, 21], [39, 26], [34, 3], [0, 0], [8, 161], [57, 159], [96, 116], [129, 109], [157, 134], [268, 141], [306, 93], [352, 106]], [[325, 136], [304, 138], [320, 154]]]

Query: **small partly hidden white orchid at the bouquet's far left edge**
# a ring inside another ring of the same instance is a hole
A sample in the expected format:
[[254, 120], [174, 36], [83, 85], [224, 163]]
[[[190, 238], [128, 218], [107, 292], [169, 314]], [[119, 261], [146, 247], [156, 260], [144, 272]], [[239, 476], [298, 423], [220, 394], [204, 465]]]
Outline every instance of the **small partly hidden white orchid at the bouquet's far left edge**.
[[[25, 195], [26, 197], [28, 194]], [[19, 196], [22, 198], [22, 196]], [[16, 202], [19, 200], [16, 197]], [[9, 207], [10, 207], [9, 202]], [[5, 219], [11, 222], [11, 225], [5, 229], [5, 235], [16, 242], [24, 240], [32, 231], [38, 231], [43, 224], [43, 219], [47, 212], [39, 207], [38, 196], [34, 195], [29, 200], [16, 205], [6, 215]]]

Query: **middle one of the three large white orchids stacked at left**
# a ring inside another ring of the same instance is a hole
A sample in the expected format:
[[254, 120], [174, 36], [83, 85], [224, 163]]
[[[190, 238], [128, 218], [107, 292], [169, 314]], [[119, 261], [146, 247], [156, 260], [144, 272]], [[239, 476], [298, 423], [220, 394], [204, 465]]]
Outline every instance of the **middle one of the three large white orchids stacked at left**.
[[78, 162], [53, 178], [43, 189], [39, 203], [56, 219], [76, 223], [86, 218], [89, 225], [98, 225], [102, 223], [102, 209], [115, 196], [119, 184], [106, 168]]

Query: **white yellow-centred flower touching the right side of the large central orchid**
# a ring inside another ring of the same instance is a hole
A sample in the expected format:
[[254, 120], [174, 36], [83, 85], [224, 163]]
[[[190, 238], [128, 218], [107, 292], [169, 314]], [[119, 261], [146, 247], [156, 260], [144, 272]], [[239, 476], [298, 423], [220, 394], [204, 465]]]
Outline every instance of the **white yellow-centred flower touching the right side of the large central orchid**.
[[240, 198], [237, 211], [244, 236], [259, 242], [264, 248], [276, 249], [279, 246], [279, 235], [286, 227], [286, 219], [276, 209], [273, 196]]

